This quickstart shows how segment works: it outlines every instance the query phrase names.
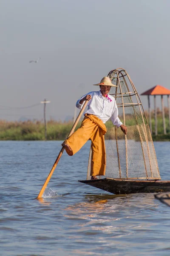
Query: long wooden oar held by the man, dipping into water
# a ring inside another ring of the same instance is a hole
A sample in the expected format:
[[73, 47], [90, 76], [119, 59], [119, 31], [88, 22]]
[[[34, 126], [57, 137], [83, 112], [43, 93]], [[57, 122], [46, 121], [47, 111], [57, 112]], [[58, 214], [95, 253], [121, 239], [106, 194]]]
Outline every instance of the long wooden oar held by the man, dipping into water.
[[[83, 105], [83, 107], [82, 107], [82, 109], [81, 109], [79, 115], [77, 116], [77, 119], [76, 119], [76, 121], [75, 121], [73, 127], [71, 128], [71, 131], [70, 131], [70, 133], [68, 134], [68, 137], [70, 137], [71, 134], [74, 133], [74, 130], [75, 130], [75, 128], [76, 128], [76, 125], [78, 124], [79, 119], [80, 119], [80, 117], [82, 116], [82, 113], [83, 113], [83, 111], [85, 110], [85, 107], [87, 106], [87, 104], [88, 104], [88, 100], [85, 101], [85, 104]], [[67, 137], [67, 138], [68, 138], [68, 137]], [[62, 149], [60, 150], [59, 155], [58, 155], [57, 159], [55, 160], [55, 163], [54, 163], [54, 165], [53, 165], [53, 167], [52, 167], [52, 169], [51, 169], [51, 172], [48, 174], [48, 177], [47, 177], [47, 179], [45, 180], [45, 183], [44, 183], [44, 185], [42, 186], [42, 189], [41, 189], [39, 195], [37, 196], [37, 199], [39, 199], [39, 198], [42, 197], [42, 194], [44, 193], [44, 190], [45, 190], [45, 188], [46, 188], [46, 186], [47, 186], [47, 184], [48, 184], [48, 182], [49, 182], [49, 180], [50, 180], [50, 178], [51, 178], [51, 176], [52, 176], [52, 174], [53, 174], [53, 172], [54, 172], [54, 170], [55, 170], [55, 168], [56, 168], [56, 166], [57, 166], [57, 163], [59, 162], [60, 157], [62, 156], [62, 153], [63, 153], [64, 149], [65, 149], [65, 148], [62, 147]]]

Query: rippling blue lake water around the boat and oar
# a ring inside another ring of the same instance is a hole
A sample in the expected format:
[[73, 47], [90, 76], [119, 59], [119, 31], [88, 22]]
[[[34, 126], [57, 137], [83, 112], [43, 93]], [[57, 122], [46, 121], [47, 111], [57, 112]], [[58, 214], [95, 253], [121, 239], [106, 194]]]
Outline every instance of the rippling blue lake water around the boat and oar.
[[[59, 141], [0, 142], [0, 255], [169, 256], [170, 207], [153, 194], [113, 195], [86, 179], [90, 142], [63, 153], [42, 201], [35, 199]], [[170, 180], [170, 143], [154, 143]]]

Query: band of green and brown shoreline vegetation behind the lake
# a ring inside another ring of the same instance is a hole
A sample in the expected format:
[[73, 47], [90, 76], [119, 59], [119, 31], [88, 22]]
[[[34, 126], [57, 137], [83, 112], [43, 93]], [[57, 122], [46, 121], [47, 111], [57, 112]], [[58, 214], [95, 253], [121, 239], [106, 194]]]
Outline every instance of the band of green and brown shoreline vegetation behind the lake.
[[[163, 134], [161, 116], [158, 116], [157, 122], [158, 135], [156, 136], [154, 134], [154, 118], [152, 118], [153, 141], [170, 141], [169, 118], [166, 117], [165, 119], [167, 134]], [[77, 128], [80, 124], [81, 121]], [[47, 122], [47, 140], [65, 140], [72, 126], [73, 120], [68, 122], [49, 120]], [[45, 140], [44, 122], [38, 120], [24, 122], [0, 120], [0, 140]]]

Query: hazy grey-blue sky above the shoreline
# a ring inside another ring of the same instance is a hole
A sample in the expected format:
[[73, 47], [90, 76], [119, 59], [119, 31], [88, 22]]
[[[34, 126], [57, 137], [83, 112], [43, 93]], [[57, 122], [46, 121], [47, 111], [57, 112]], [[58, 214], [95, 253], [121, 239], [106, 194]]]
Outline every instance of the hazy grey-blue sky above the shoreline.
[[0, 0], [0, 119], [42, 119], [42, 104], [23, 107], [45, 98], [48, 119], [73, 116], [118, 67], [139, 93], [170, 89], [169, 11], [169, 0]]

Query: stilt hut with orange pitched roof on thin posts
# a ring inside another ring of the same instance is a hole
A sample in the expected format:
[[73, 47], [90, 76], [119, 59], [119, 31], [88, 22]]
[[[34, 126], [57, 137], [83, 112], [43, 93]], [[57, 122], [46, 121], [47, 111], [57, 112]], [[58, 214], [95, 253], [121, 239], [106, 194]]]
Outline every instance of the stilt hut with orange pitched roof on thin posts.
[[153, 88], [145, 91], [141, 95], [147, 95], [148, 99], [148, 112], [149, 112], [149, 126], [150, 126], [150, 132], [152, 134], [152, 122], [151, 122], [151, 110], [150, 110], [150, 95], [154, 96], [154, 116], [155, 116], [155, 135], [158, 134], [157, 129], [157, 113], [156, 113], [156, 95], [161, 96], [161, 108], [162, 108], [162, 120], [163, 120], [163, 127], [164, 127], [164, 134], [166, 134], [166, 124], [165, 124], [165, 116], [164, 116], [164, 101], [163, 96], [167, 95], [167, 104], [168, 104], [168, 111], [169, 111], [169, 124], [170, 124], [170, 90], [167, 88], [157, 84]]

